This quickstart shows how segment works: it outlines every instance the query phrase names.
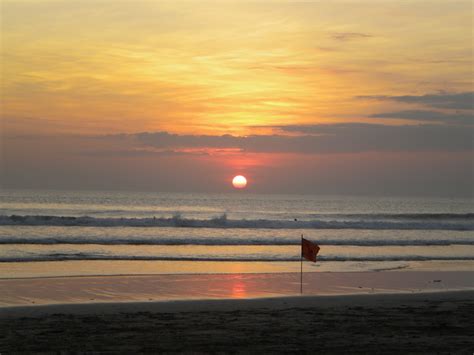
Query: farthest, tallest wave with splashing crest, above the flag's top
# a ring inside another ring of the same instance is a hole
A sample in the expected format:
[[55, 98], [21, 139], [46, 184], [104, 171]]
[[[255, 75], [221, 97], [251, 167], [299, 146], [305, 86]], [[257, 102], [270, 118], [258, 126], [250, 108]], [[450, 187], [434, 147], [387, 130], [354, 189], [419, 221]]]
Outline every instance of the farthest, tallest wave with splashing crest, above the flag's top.
[[[474, 214], [440, 214], [440, 218], [426, 218], [427, 214], [409, 219], [375, 220], [270, 220], [228, 219], [224, 214], [211, 219], [170, 218], [95, 218], [68, 216], [1, 215], [0, 225], [23, 226], [90, 226], [90, 227], [181, 227], [181, 228], [265, 228], [265, 229], [401, 229], [401, 230], [474, 230]], [[399, 216], [399, 215], [391, 215]], [[434, 216], [434, 214], [428, 214]], [[446, 216], [451, 216], [446, 220]], [[452, 216], [456, 216], [455, 218]], [[462, 217], [463, 216], [463, 217]], [[327, 216], [325, 217], [327, 218]], [[367, 217], [365, 217], [367, 218]]]

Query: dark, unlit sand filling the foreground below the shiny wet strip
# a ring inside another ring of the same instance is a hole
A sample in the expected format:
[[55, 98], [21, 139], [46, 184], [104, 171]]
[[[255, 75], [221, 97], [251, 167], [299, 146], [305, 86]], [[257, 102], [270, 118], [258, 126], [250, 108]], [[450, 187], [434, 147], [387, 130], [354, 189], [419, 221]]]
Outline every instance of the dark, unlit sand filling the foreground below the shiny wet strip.
[[0, 352], [474, 351], [474, 291], [0, 308]]

